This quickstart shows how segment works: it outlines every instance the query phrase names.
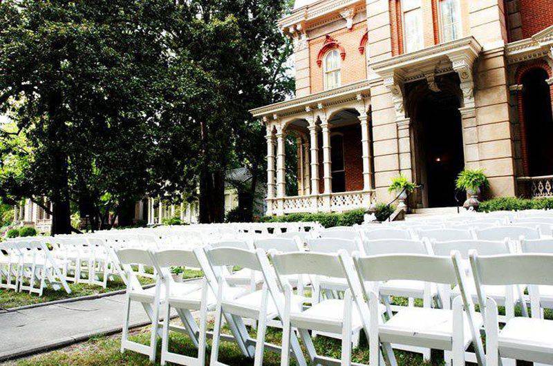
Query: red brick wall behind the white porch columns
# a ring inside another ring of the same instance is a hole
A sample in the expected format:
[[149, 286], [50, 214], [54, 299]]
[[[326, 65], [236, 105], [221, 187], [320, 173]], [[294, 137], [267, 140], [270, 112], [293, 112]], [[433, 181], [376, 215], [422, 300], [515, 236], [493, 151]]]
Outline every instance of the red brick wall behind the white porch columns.
[[[331, 128], [330, 133], [344, 135], [344, 170], [346, 171], [346, 191], [363, 189], [363, 146], [361, 143], [361, 125], [354, 124]], [[324, 166], [322, 134], [319, 132], [319, 193], [324, 193]]]

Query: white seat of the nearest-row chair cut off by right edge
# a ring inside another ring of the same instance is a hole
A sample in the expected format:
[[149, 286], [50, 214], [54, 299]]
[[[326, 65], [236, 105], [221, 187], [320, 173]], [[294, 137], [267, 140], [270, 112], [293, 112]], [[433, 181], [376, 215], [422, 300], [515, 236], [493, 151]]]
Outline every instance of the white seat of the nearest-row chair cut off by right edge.
[[553, 320], [516, 317], [499, 332], [502, 357], [553, 364]]

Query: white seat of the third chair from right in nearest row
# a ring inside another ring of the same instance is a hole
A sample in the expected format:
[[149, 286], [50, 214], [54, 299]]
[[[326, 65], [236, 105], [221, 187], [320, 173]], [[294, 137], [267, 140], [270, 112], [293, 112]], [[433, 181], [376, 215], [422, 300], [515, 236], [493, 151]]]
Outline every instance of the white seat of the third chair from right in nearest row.
[[[352, 305], [351, 329], [358, 331], [363, 327], [363, 322], [355, 304]], [[386, 307], [379, 306], [379, 311], [384, 314]], [[304, 311], [290, 311], [292, 327], [301, 329], [313, 329], [330, 333], [341, 333], [344, 322], [344, 300], [328, 299], [309, 307]]]

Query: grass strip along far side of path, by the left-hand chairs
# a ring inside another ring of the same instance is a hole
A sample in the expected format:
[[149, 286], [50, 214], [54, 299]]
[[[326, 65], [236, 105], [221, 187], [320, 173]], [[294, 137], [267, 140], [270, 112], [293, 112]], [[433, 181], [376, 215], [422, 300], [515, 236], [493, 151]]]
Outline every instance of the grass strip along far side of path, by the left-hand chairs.
[[[183, 275], [184, 278], [197, 278], [201, 276], [203, 276], [202, 271], [194, 269], [185, 269]], [[153, 280], [151, 280], [151, 278], [141, 277], [140, 282], [142, 285], [148, 285], [153, 283]], [[116, 277], [113, 281], [108, 281], [106, 289], [97, 285], [86, 285], [84, 283], [75, 284], [71, 282], [69, 282], [69, 287], [71, 288], [71, 293], [66, 293], [63, 289], [59, 291], [55, 291], [51, 288], [44, 289], [44, 293], [41, 297], [36, 293], [28, 293], [28, 291], [16, 292], [13, 290], [0, 289], [0, 310], [125, 289], [125, 285], [119, 277]]]

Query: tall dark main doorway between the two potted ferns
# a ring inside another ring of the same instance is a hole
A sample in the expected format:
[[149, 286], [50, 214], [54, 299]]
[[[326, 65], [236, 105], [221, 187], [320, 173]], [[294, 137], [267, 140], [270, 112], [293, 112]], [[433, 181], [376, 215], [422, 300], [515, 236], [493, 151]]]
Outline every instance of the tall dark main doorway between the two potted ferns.
[[416, 108], [415, 164], [418, 180], [424, 184], [422, 203], [427, 207], [457, 204], [455, 180], [465, 166], [458, 108], [458, 97], [442, 92], [429, 92]]

